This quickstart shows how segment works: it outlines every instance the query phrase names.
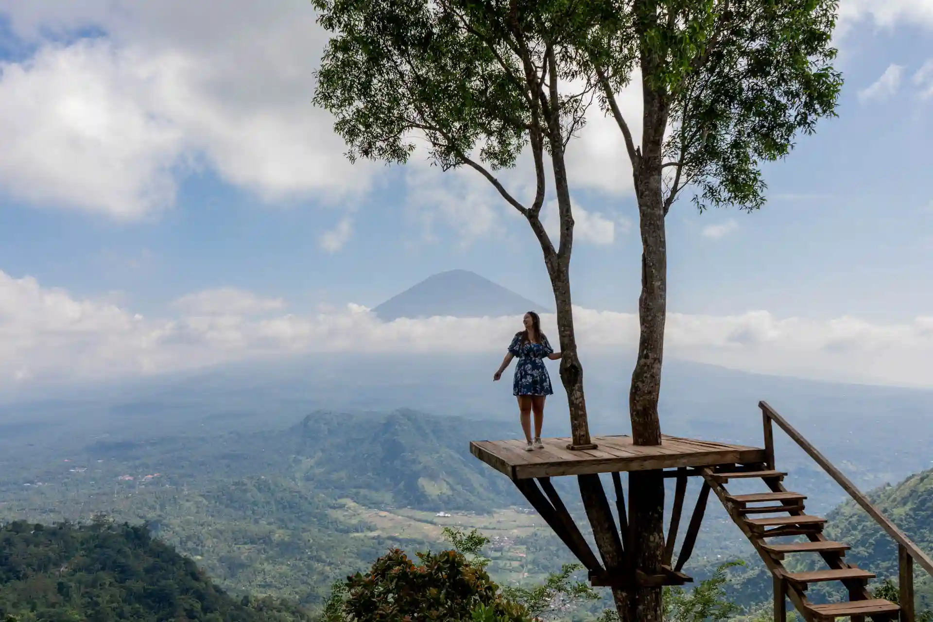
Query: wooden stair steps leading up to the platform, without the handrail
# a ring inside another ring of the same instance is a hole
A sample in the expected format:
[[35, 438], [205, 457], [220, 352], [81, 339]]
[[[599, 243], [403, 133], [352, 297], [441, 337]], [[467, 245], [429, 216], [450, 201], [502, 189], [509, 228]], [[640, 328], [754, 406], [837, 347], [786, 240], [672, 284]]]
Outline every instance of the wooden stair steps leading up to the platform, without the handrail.
[[[852, 622], [864, 622], [867, 617], [875, 622], [898, 620], [900, 607], [890, 601], [871, 597], [867, 583], [875, 574], [856, 568], [843, 560], [848, 545], [832, 542], [823, 535], [826, 518], [806, 514], [798, 492], [787, 491], [783, 480], [787, 475], [772, 469], [743, 470], [720, 467], [703, 468], [703, 479], [729, 516], [755, 546], [761, 559], [771, 571], [774, 581], [774, 619], [785, 620], [785, 598], [808, 622], [823, 622], [848, 617]], [[726, 484], [733, 479], [759, 479], [767, 491], [754, 494], [731, 494]], [[767, 515], [767, 516], [764, 516]], [[804, 536], [802, 542], [773, 544], [779, 536]], [[787, 555], [816, 553], [829, 568], [804, 573], [790, 573], [784, 567]], [[829, 604], [816, 604], [807, 599], [807, 587], [813, 583], [840, 581], [849, 593], [849, 600]]]

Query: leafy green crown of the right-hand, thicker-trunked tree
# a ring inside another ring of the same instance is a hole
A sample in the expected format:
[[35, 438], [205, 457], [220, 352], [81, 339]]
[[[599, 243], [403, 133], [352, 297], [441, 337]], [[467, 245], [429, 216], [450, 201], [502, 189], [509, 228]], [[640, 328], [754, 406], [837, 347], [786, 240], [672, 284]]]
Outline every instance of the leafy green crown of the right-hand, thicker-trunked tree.
[[[647, 155], [635, 145], [616, 97], [635, 76], [646, 99], [645, 122], [661, 125], [666, 213], [692, 187], [701, 210], [759, 208], [759, 163], [781, 159], [795, 137], [835, 115], [842, 75], [833, 68], [837, 0], [597, 0], [598, 24], [581, 42], [580, 76], [600, 92], [636, 169]], [[647, 128], [647, 138], [661, 136]]]

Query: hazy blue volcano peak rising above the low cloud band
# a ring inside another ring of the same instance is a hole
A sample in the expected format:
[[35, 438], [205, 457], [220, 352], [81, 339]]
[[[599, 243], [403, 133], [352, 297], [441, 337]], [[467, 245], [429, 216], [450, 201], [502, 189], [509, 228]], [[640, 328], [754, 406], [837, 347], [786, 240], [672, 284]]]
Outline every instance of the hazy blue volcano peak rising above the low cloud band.
[[383, 322], [434, 316], [499, 317], [551, 310], [469, 270], [427, 277], [372, 310]]

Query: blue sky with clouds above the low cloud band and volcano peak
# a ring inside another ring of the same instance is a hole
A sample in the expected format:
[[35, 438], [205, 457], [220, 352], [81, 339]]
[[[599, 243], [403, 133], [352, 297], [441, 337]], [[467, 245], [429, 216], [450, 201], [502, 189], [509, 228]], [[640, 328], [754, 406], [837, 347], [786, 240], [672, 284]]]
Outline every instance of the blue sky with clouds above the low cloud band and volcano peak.
[[[475, 175], [343, 162], [327, 115], [310, 104], [324, 35], [307, 3], [241, 2], [220, 19], [212, 2], [80, 4], [0, 0], [0, 270], [20, 283], [8, 288], [35, 280], [29, 304], [58, 289], [84, 305], [82, 317], [113, 304], [179, 325], [200, 312], [179, 298], [233, 288], [280, 301], [260, 311], [310, 317], [375, 306], [454, 268], [550, 304], [530, 230]], [[923, 69], [933, 5], [842, 0], [842, 12], [840, 117], [766, 167], [771, 200], [759, 213], [675, 205], [671, 311], [766, 311], [824, 326], [856, 318], [872, 335], [933, 316], [933, 64]], [[592, 235], [575, 247], [575, 303], [631, 313], [640, 247], [630, 170], [618, 145], [600, 151], [618, 132], [592, 127], [571, 146], [573, 197], [592, 215]], [[0, 305], [12, 309], [17, 296]], [[55, 343], [56, 321], [41, 328], [44, 343]], [[11, 320], [3, 329], [40, 330]], [[30, 347], [0, 350], [10, 373], [45, 368]], [[160, 359], [147, 352], [126, 360]], [[89, 368], [101, 365], [89, 356]], [[787, 356], [786, 369], [769, 370], [802, 369]]]

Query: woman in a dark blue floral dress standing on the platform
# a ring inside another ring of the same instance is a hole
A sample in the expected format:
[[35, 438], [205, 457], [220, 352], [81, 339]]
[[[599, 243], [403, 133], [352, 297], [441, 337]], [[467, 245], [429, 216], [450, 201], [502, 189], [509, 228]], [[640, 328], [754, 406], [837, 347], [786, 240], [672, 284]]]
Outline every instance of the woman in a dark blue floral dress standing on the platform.
[[[508, 346], [506, 358], [493, 375], [493, 381], [502, 378], [502, 372], [516, 356], [515, 380], [512, 382], [512, 394], [519, 400], [519, 412], [522, 413], [522, 430], [525, 433], [525, 451], [543, 449], [541, 443], [541, 424], [544, 422], [544, 400], [554, 391], [550, 388], [548, 369], [544, 358], [554, 361], [561, 358], [561, 352], [554, 352], [548, 338], [541, 332], [541, 318], [535, 311], [528, 311], [522, 318], [525, 329], [515, 333]], [[535, 443], [531, 440], [531, 413], [535, 411]]]

